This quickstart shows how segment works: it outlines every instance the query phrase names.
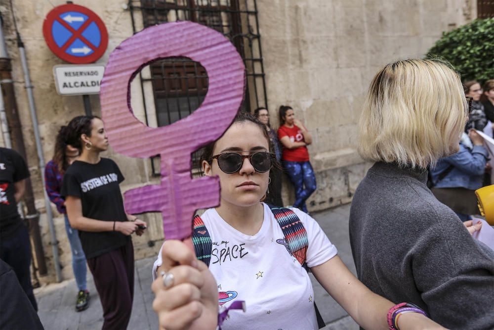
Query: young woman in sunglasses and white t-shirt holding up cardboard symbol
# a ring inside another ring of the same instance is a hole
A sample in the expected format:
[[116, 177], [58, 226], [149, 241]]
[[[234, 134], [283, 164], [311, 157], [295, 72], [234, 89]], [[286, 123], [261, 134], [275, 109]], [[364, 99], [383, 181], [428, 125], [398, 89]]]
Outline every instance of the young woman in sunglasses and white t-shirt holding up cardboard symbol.
[[[160, 329], [212, 330], [220, 310], [230, 310], [222, 329], [318, 329], [314, 290], [307, 271], [291, 256], [266, 193], [275, 162], [267, 132], [255, 117], [240, 114], [202, 156], [207, 176], [219, 176], [221, 202], [201, 215], [212, 241], [207, 267], [190, 240], [166, 240], [153, 267], [153, 308]], [[314, 219], [292, 208], [307, 231], [305, 261], [316, 279], [366, 329], [388, 329], [392, 302], [371, 293], [346, 268]], [[287, 251], [288, 250], [288, 251]], [[163, 273], [162, 273], [163, 272]], [[219, 298], [219, 299], [218, 299]], [[413, 311], [418, 311], [413, 309]], [[420, 313], [401, 314], [399, 327], [443, 329]]]

